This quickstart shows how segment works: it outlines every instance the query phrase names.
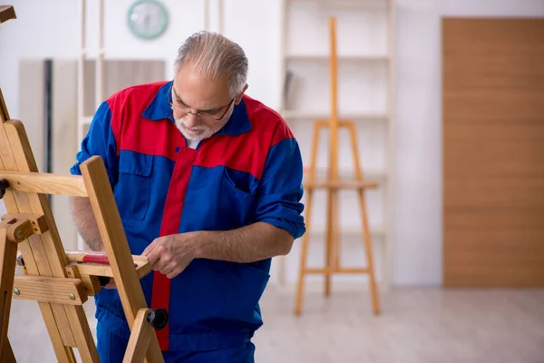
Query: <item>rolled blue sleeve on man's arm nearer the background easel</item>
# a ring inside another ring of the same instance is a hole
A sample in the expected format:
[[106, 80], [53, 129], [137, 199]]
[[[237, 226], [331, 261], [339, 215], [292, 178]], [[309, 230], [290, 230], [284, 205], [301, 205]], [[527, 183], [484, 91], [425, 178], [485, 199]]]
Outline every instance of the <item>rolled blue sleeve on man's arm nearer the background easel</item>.
[[285, 139], [268, 151], [267, 162], [257, 188], [256, 220], [291, 233], [294, 239], [306, 231], [301, 203], [302, 155], [295, 139]]

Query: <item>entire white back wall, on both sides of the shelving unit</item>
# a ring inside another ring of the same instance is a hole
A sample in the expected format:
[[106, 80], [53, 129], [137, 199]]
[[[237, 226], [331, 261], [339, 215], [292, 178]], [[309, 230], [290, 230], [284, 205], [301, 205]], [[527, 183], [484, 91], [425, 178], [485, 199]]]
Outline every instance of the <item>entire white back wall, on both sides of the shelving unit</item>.
[[[199, 2], [164, 0], [170, 15], [176, 16], [174, 23], [158, 43], [143, 43], [132, 39], [123, 23], [124, 12], [131, 2], [107, 0], [106, 3], [106, 54], [113, 57], [160, 56], [170, 62], [182, 40], [203, 24], [198, 15], [187, 15], [189, 11], [201, 13]], [[0, 4], [7, 2], [0, 1]], [[79, 8], [78, 2], [73, 0], [12, 0], [9, 4], [15, 5], [19, 19], [0, 25], [0, 87], [12, 117], [16, 118], [19, 106], [32, 104], [32, 100], [20, 102], [17, 99], [18, 60], [29, 56], [76, 57]], [[72, 16], [55, 14], [59, 8]], [[238, 41], [250, 58], [248, 93], [278, 107], [279, 1], [229, 0], [225, 2], [225, 14], [224, 33]], [[442, 282], [442, 15], [543, 16], [544, 2], [398, 1], [397, 200], [392, 265], [396, 285], [439, 285]], [[90, 34], [90, 38], [92, 47], [96, 37]], [[292, 257], [295, 260], [296, 252], [294, 250]], [[316, 259], [321, 261], [318, 256]]]

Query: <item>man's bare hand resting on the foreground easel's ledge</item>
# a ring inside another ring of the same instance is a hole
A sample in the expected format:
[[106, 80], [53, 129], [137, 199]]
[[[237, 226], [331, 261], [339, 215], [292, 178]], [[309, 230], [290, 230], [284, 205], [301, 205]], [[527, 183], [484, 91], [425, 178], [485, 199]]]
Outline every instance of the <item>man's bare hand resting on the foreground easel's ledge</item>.
[[151, 269], [173, 279], [195, 258], [197, 236], [198, 232], [188, 232], [160, 237], [153, 240], [141, 255], [150, 260]]

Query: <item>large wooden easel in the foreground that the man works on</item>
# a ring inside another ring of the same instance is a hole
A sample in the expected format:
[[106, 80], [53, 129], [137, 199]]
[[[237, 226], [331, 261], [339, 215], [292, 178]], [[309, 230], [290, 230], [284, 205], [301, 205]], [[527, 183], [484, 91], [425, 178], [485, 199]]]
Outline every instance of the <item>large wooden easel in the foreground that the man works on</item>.
[[[0, 23], [8, 19], [15, 19], [13, 6], [0, 6]], [[13, 296], [38, 302], [59, 362], [75, 362], [73, 348], [83, 362], [99, 362], [83, 303], [106, 277], [115, 280], [131, 328], [123, 361], [163, 362], [154, 329], [164, 328], [168, 315], [148, 309], [139, 281], [151, 272], [148, 260], [131, 256], [102, 159], [83, 162], [82, 173], [38, 172], [24, 125], [10, 120], [0, 90], [0, 197], [7, 209], [0, 223], [0, 361], [15, 362], [7, 338]], [[88, 197], [106, 252], [63, 250], [46, 194]], [[23, 275], [15, 276], [16, 261]]]

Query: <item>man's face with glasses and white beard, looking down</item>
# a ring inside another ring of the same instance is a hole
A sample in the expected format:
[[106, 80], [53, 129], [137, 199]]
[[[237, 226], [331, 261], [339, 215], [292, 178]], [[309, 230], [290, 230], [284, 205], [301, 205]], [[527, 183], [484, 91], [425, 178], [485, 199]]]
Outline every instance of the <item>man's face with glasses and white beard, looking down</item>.
[[192, 64], [184, 64], [174, 77], [172, 111], [176, 126], [189, 140], [200, 141], [218, 132], [228, 122], [234, 101], [238, 100], [228, 94], [226, 75], [212, 80], [197, 74]]

